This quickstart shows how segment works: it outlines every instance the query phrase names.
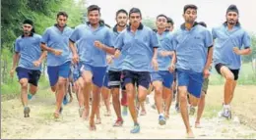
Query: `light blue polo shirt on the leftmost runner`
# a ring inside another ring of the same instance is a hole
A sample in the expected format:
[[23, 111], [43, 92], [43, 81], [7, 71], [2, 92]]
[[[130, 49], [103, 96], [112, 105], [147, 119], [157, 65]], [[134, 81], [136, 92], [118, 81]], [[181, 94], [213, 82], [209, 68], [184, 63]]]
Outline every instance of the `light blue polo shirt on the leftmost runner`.
[[35, 68], [32, 64], [41, 56], [40, 41], [41, 36], [35, 33], [32, 33], [32, 36], [29, 37], [20, 36], [16, 39], [15, 52], [21, 55], [18, 67], [28, 70], [41, 69], [41, 65]]

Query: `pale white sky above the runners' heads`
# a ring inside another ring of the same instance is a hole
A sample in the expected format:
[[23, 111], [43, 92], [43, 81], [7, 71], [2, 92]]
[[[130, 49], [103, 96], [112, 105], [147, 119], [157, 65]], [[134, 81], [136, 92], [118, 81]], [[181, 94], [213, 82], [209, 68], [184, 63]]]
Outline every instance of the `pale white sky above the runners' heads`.
[[[224, 23], [225, 12], [230, 4], [239, 10], [239, 21], [249, 32], [256, 33], [256, 0], [88, 0], [88, 5], [96, 4], [101, 8], [101, 19], [113, 26], [115, 12], [119, 9], [139, 8], [143, 18], [156, 18], [160, 14], [170, 17], [174, 27], [183, 23], [183, 7], [195, 4], [198, 7], [198, 22], [205, 22], [212, 28]], [[254, 17], [254, 18], [253, 18]]]

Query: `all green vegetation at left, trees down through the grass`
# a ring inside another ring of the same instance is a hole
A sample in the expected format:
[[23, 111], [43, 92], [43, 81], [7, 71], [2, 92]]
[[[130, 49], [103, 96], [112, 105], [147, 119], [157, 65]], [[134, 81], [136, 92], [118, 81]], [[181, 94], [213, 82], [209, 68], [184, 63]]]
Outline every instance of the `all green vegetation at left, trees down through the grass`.
[[[13, 45], [22, 33], [23, 21], [31, 19], [35, 32], [42, 34], [46, 27], [56, 23], [57, 13], [65, 11], [69, 15], [68, 25], [76, 26], [83, 22], [87, 10], [86, 0], [3, 0], [1, 4], [1, 62], [7, 62], [5, 73], [0, 72], [5, 75], [4, 83], [1, 84], [1, 95], [13, 97], [19, 94], [20, 85], [16, 74], [11, 78], [9, 71], [12, 67]], [[39, 87], [47, 86], [48, 80], [41, 76]]]

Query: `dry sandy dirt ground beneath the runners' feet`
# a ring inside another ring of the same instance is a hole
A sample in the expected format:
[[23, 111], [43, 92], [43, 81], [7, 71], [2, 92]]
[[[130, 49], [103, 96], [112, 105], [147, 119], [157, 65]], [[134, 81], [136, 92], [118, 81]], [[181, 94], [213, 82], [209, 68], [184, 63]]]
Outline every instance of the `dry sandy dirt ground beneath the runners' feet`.
[[[150, 102], [153, 103], [151, 94]], [[74, 95], [75, 97], [75, 95]], [[195, 117], [190, 123], [196, 138], [256, 138], [256, 86], [237, 86], [232, 104], [234, 115], [231, 120], [218, 117], [222, 108], [223, 86], [209, 87], [206, 97], [206, 110], [202, 118], [203, 128], [195, 128]], [[141, 132], [131, 134], [133, 122], [128, 114], [122, 127], [112, 127], [115, 116], [104, 117], [105, 108], [101, 106], [101, 124], [97, 130], [89, 130], [89, 122], [78, 114], [78, 102], [74, 98], [64, 107], [59, 120], [53, 118], [54, 96], [47, 90], [41, 90], [30, 102], [31, 117], [23, 117], [23, 107], [19, 99], [1, 102], [1, 139], [176, 139], [185, 138], [185, 127], [180, 114], [171, 106], [170, 117], [166, 125], [158, 124], [157, 111], [147, 104], [147, 115], [139, 117]], [[238, 120], [237, 120], [238, 118]]]

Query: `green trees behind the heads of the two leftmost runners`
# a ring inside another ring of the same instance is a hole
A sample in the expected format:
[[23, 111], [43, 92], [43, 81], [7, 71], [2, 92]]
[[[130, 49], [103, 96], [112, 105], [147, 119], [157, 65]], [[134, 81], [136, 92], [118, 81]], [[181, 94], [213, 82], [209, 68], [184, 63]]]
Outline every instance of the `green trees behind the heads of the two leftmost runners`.
[[[83, 3], [83, 4], [82, 4]], [[72, 7], [71, 7], [72, 6]], [[82, 23], [85, 13], [85, 0], [4, 0], [1, 5], [1, 47], [12, 49], [13, 42], [22, 33], [22, 23], [31, 19], [36, 33], [55, 23], [56, 14], [65, 11], [69, 15], [68, 24]]]

